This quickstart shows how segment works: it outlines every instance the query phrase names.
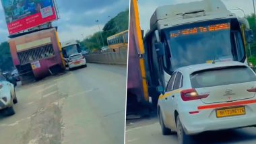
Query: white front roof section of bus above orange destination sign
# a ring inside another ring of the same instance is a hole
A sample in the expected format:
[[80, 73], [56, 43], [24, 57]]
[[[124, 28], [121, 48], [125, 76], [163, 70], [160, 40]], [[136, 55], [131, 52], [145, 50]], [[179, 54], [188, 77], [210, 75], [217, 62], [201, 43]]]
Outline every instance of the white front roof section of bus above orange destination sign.
[[168, 28], [193, 22], [236, 17], [220, 0], [193, 1], [177, 5], [164, 5], [156, 9], [150, 19], [150, 29]]

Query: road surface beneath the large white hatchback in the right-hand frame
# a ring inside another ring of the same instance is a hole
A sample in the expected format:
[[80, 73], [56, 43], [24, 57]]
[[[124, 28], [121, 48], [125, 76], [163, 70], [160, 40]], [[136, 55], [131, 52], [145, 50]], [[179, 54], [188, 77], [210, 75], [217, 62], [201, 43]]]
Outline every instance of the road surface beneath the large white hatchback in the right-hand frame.
[[[256, 128], [203, 133], [193, 137], [195, 143], [256, 143]], [[126, 144], [178, 144], [177, 134], [163, 136], [156, 114], [139, 120], [127, 120]]]

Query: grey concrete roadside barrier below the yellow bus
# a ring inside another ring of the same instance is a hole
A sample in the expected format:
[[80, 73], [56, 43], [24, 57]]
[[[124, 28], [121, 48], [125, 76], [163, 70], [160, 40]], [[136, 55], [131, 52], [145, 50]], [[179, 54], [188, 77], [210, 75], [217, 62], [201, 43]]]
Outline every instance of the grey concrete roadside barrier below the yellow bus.
[[109, 65], [127, 65], [127, 48], [120, 48], [117, 52], [97, 52], [86, 55], [88, 63], [103, 63]]

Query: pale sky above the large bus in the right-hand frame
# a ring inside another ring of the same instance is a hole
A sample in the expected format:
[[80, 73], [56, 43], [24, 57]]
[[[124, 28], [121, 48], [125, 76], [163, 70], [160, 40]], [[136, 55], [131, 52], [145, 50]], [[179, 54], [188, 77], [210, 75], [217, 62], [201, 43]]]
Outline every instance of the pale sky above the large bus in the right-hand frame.
[[[150, 29], [150, 17], [158, 6], [172, 5], [177, 3], [188, 3], [191, 1], [198, 0], [138, 0], [141, 29], [145, 31]], [[241, 8], [245, 11], [245, 15], [249, 15], [254, 12], [253, 0], [222, 0], [222, 2], [226, 5], [227, 9], [229, 9], [233, 13], [236, 13], [236, 15], [239, 17], [244, 16], [243, 11], [237, 11], [232, 9], [237, 9], [236, 7]]]

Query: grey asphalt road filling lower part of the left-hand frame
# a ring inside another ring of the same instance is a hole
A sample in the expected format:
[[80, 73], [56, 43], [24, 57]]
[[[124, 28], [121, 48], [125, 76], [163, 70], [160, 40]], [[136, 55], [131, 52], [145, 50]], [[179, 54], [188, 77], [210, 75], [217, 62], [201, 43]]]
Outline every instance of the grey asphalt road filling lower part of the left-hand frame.
[[88, 67], [18, 86], [0, 143], [123, 143], [126, 67]]

